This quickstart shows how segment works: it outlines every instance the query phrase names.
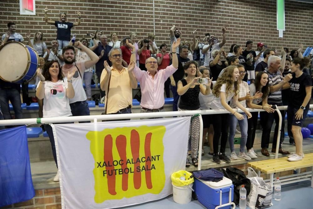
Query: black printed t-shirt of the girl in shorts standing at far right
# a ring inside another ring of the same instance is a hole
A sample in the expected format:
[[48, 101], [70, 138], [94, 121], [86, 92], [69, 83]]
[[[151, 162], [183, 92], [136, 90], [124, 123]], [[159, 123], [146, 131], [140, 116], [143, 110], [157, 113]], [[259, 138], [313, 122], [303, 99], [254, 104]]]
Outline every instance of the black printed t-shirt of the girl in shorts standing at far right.
[[[305, 86], [312, 86], [312, 78], [306, 73], [298, 78], [295, 77], [295, 74], [292, 75], [290, 83], [290, 97], [289, 105], [295, 108], [300, 108], [303, 103], [303, 100], [306, 96]], [[307, 107], [310, 105], [308, 102]]]

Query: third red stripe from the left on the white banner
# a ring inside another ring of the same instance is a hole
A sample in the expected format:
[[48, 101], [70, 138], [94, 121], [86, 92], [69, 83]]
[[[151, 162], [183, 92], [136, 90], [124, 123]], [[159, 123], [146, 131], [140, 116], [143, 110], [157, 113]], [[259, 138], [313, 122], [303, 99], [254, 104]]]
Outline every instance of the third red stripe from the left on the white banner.
[[[139, 133], [136, 130], [131, 130], [131, 154], [133, 156], [134, 161], [139, 158], [139, 146], [140, 146], [140, 138]], [[140, 163], [134, 164], [134, 187], [135, 189], [139, 189], [141, 187], [141, 172], [137, 171], [137, 167], [140, 168]]]

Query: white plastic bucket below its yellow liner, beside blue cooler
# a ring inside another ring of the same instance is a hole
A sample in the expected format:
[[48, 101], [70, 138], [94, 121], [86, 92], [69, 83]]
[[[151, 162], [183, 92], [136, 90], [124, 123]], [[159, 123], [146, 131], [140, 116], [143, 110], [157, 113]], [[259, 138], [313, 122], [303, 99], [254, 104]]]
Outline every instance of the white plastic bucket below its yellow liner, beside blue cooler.
[[173, 200], [179, 204], [189, 203], [191, 201], [192, 185], [193, 183], [186, 186], [173, 185]]

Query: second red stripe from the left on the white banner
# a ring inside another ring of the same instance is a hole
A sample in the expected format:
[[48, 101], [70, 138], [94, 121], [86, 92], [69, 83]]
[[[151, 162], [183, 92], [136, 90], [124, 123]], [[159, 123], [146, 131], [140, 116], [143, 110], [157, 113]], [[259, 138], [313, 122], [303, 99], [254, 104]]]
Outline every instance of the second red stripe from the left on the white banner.
[[[126, 136], [119, 135], [116, 137], [116, 148], [118, 151], [118, 154], [120, 155], [120, 159], [123, 161], [123, 165], [121, 165], [121, 168], [125, 171], [127, 168], [126, 165]], [[128, 189], [128, 173], [123, 172], [122, 174], [122, 190], [127, 191]]]

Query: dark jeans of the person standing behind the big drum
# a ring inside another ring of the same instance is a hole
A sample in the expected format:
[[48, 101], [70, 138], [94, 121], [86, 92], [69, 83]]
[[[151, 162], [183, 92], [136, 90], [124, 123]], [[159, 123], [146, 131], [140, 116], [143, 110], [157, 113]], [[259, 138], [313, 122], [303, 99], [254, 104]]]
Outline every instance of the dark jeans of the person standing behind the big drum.
[[23, 111], [21, 107], [21, 96], [20, 92], [17, 89], [0, 89], [0, 107], [1, 112], [3, 114], [3, 118], [5, 120], [12, 119], [10, 109], [9, 109], [9, 101], [13, 106], [13, 110], [15, 112], [15, 119], [23, 118]]

